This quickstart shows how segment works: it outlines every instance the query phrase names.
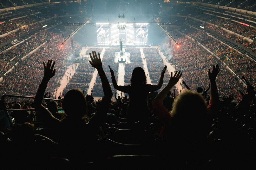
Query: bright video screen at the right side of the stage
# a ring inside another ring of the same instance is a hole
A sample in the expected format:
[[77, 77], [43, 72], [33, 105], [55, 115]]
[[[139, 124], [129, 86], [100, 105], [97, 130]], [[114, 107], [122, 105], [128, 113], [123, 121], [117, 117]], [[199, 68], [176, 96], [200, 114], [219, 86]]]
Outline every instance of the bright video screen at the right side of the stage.
[[135, 45], [146, 45], [148, 43], [148, 23], [136, 23]]

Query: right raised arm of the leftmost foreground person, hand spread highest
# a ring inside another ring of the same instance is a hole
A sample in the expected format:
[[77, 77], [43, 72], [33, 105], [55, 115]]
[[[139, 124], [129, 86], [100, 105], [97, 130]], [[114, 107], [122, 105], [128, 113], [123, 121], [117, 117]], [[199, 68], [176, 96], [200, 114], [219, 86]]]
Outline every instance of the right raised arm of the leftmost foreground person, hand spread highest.
[[[100, 53], [98, 53], [98, 58], [96, 52], [92, 52], [93, 57], [90, 54], [90, 58], [92, 61], [89, 61], [89, 63], [98, 71], [98, 74], [101, 78], [102, 82], [102, 89], [104, 92], [104, 98], [102, 99], [102, 102], [99, 106], [99, 109], [97, 112], [93, 115], [93, 117], [89, 121], [89, 125], [94, 126], [95, 128], [98, 127], [101, 123], [103, 123], [104, 116], [107, 114], [112, 98], [112, 90], [110, 88], [110, 84], [108, 82], [108, 78], [102, 68], [102, 62], [101, 62], [101, 56]], [[94, 128], [94, 129], [95, 129]], [[96, 129], [95, 129], [96, 130]]]

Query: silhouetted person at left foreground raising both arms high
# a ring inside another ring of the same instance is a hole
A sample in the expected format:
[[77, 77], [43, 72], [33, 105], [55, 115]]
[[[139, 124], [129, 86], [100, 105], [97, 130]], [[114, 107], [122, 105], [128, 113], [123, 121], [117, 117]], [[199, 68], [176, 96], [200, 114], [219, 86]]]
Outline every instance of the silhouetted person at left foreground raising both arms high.
[[50, 127], [54, 140], [63, 146], [62, 152], [66, 154], [69, 159], [77, 161], [83, 158], [81, 155], [86, 156], [92, 153], [89, 150], [84, 151], [83, 149], [80, 149], [80, 147], [92, 145], [95, 139], [98, 138], [97, 134], [100, 129], [99, 127], [107, 116], [113, 95], [108, 79], [102, 68], [100, 54], [98, 53], [99, 57], [97, 58], [96, 52], [94, 51], [92, 53], [93, 57], [91, 53], [89, 53], [92, 60], [89, 61], [89, 63], [92, 67], [98, 70], [102, 81], [104, 98], [102, 99], [97, 112], [90, 119], [86, 118], [88, 112], [86, 98], [82, 90], [77, 88], [71, 89], [65, 94], [62, 100], [62, 107], [67, 116], [61, 120], [55, 118], [53, 114], [42, 105], [43, 95], [47, 84], [55, 75], [56, 71], [55, 69], [53, 70], [55, 62], [52, 64], [52, 60], [48, 60], [46, 65], [43, 63], [44, 76], [34, 100], [37, 116]]

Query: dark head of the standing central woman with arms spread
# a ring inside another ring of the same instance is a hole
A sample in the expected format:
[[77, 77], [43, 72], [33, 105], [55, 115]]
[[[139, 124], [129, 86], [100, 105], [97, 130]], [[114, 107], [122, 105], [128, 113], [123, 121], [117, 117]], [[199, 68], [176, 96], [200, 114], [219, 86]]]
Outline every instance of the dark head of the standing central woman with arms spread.
[[131, 77], [131, 86], [145, 85], [147, 83], [145, 71], [141, 67], [133, 69]]

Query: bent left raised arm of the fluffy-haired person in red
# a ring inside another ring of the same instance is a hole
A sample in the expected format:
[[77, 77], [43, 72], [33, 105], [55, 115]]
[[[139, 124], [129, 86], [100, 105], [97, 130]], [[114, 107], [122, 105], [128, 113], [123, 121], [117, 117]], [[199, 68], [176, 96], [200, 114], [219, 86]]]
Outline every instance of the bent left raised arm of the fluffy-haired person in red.
[[173, 73], [171, 73], [170, 80], [167, 84], [167, 86], [155, 97], [155, 100], [164, 100], [166, 94], [173, 88], [173, 86], [179, 81], [181, 78], [181, 71], [176, 71], [174, 76]]

